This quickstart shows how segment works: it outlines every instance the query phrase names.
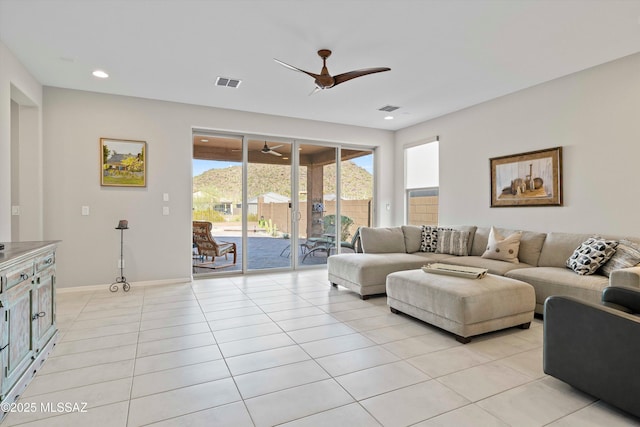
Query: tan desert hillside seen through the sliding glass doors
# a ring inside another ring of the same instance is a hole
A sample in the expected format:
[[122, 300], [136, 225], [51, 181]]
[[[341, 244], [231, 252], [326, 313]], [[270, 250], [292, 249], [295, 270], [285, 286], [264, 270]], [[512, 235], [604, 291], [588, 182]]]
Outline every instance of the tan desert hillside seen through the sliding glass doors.
[[[346, 161], [341, 164], [341, 171], [343, 199], [361, 200], [372, 197], [373, 176], [366, 169]], [[247, 181], [249, 199], [269, 192], [291, 197], [290, 166], [250, 163]], [[335, 165], [325, 167], [325, 194], [336, 194], [335, 181]], [[307, 168], [301, 169], [300, 191], [307, 191]], [[242, 167], [209, 169], [193, 177], [193, 192], [206, 193], [214, 201], [239, 203], [242, 200]]]

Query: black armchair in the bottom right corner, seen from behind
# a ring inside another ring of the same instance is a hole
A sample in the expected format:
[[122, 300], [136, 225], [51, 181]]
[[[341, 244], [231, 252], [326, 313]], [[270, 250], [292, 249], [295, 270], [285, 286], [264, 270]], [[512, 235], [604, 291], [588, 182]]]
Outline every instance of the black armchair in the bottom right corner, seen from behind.
[[605, 288], [602, 305], [547, 298], [544, 372], [640, 417], [640, 289]]

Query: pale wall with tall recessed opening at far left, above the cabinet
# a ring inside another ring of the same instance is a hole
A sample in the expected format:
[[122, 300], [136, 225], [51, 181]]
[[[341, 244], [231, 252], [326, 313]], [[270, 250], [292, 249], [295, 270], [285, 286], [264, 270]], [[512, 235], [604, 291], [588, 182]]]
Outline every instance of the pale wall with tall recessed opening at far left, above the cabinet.
[[[11, 100], [14, 100], [13, 116]], [[15, 146], [20, 149], [17, 159], [26, 161], [14, 175], [19, 176], [17, 187], [24, 200], [26, 218], [19, 221], [20, 236], [29, 240], [42, 239], [42, 175], [40, 172], [42, 152], [42, 85], [24, 68], [11, 51], [0, 41], [0, 242], [11, 241], [11, 183], [12, 156], [11, 131], [19, 128], [21, 135]], [[15, 113], [24, 113], [24, 121], [16, 124]], [[11, 126], [13, 123], [16, 126]], [[14, 187], [15, 188], [15, 187]], [[24, 192], [24, 193], [22, 193]]]

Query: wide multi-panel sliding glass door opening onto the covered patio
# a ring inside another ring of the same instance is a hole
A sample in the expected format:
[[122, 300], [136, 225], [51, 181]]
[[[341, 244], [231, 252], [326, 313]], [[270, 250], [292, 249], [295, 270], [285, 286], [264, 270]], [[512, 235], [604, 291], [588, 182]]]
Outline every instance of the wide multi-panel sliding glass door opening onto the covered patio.
[[213, 132], [193, 145], [194, 227], [227, 248], [211, 256], [194, 228], [194, 276], [325, 265], [372, 224], [372, 150]]

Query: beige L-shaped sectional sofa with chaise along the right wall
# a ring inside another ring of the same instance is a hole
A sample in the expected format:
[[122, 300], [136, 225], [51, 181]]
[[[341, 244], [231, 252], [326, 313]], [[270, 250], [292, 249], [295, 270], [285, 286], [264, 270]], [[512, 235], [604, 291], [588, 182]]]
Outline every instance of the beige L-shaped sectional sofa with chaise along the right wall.
[[[606, 277], [597, 273], [581, 276], [565, 266], [574, 250], [592, 234], [522, 231], [519, 262], [511, 263], [482, 257], [490, 227], [452, 228], [469, 232], [467, 256], [421, 252], [422, 229], [418, 226], [363, 227], [361, 239], [364, 253], [329, 257], [329, 281], [357, 292], [366, 299], [384, 294], [387, 275], [396, 271], [418, 269], [432, 262], [482, 267], [491, 274], [531, 284], [535, 289], [537, 313], [543, 312], [544, 301], [551, 295], [574, 296], [597, 303], [602, 290], [609, 285], [640, 288], [640, 267], [615, 270], [610, 277]], [[496, 230], [505, 236], [516, 231], [504, 228]]]

